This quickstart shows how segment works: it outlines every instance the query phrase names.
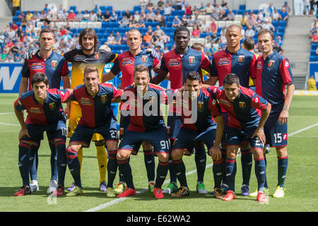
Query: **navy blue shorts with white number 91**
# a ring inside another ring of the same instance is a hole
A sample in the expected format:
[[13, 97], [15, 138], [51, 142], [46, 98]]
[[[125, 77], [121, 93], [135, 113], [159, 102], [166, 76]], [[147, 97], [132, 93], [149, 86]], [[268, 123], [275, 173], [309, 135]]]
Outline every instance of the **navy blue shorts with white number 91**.
[[170, 153], [170, 144], [166, 127], [147, 132], [127, 130], [122, 141], [119, 143], [118, 150], [131, 150], [132, 154], [136, 155], [139, 150], [136, 150], [136, 145], [141, 145], [143, 141], [151, 143], [151, 145], [153, 145], [153, 150], [157, 153]]

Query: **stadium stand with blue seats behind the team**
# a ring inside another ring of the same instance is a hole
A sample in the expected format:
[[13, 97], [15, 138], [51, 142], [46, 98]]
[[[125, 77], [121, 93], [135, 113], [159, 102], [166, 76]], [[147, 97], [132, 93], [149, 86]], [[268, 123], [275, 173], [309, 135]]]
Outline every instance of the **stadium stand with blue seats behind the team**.
[[[37, 43], [39, 32], [46, 26], [54, 28], [57, 39], [54, 51], [60, 54], [78, 47], [78, 34], [84, 28], [94, 28], [99, 44], [107, 42], [112, 52], [119, 54], [128, 50], [125, 33], [131, 28], [137, 28], [143, 34], [144, 40], [147, 40], [143, 42], [143, 47], [153, 47], [162, 56], [174, 47], [173, 36], [177, 27], [172, 27], [172, 23], [175, 17], [179, 19], [179, 25], [187, 26], [190, 32], [195, 25], [198, 26], [197, 36], [192, 37], [190, 44], [194, 42], [204, 44], [205, 52], [210, 59], [214, 52], [225, 47], [226, 41], [222, 34], [232, 24], [242, 25], [243, 34], [247, 26], [251, 25], [256, 43], [259, 30], [268, 27], [275, 33], [276, 39], [280, 36], [281, 44], [283, 43], [287, 21], [281, 20], [279, 15], [274, 17], [274, 13], [269, 11], [250, 10], [246, 9], [245, 5], [240, 5], [239, 8], [228, 8], [227, 5], [222, 7], [219, 4], [192, 5], [191, 8], [183, 5], [181, 9], [177, 9], [171, 4], [172, 11], [169, 12], [168, 6], [148, 4], [145, 11], [141, 10], [141, 6], [134, 6], [131, 11], [117, 11], [112, 6], [98, 6], [86, 11], [78, 11], [76, 6], [70, 6], [67, 9], [58, 8], [55, 11], [50, 11], [48, 8], [43, 8], [42, 11], [18, 10], [12, 22], [0, 32], [0, 61], [23, 61], [25, 49], [39, 46]], [[153, 17], [148, 18], [151, 10], [153, 10]], [[224, 14], [221, 11], [224, 11]], [[278, 9], [279, 13], [281, 9]], [[213, 20], [216, 23], [212, 26]], [[114, 35], [114, 38], [109, 38], [110, 33]], [[116, 42], [109, 43], [108, 40], [111, 39]], [[258, 52], [257, 47], [255, 52]]]

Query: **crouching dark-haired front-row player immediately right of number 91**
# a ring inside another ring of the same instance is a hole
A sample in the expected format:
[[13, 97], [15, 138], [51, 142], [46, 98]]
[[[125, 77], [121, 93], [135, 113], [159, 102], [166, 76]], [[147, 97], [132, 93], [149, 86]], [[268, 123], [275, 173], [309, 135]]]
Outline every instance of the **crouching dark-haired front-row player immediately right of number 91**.
[[[174, 198], [189, 196], [186, 168], [182, 161], [187, 149], [200, 142], [206, 145], [213, 160], [220, 160], [221, 157], [219, 145], [224, 121], [220, 114], [220, 106], [214, 97], [201, 89], [201, 85], [201, 76], [198, 72], [187, 73], [184, 88], [180, 89], [182, 98], [177, 98], [176, 101], [177, 108], [182, 112], [182, 125], [171, 153], [172, 165], [180, 182], [180, 188], [172, 194]], [[206, 155], [204, 148], [203, 151], [200, 155]]]

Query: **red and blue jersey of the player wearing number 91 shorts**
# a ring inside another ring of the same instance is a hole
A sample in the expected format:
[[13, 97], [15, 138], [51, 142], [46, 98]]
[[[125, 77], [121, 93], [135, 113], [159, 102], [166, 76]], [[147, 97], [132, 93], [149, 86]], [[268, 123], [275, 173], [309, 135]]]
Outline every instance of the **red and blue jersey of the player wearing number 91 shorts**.
[[165, 127], [160, 104], [167, 103], [165, 91], [155, 85], [148, 84], [147, 92], [141, 96], [136, 88], [129, 85], [122, 95], [122, 110], [129, 106], [130, 131], [154, 131]]

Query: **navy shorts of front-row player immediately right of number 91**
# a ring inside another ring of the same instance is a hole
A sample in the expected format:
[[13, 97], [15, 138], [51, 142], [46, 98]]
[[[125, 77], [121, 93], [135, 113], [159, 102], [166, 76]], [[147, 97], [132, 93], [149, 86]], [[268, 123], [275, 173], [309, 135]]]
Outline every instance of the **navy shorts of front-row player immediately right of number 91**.
[[175, 139], [172, 150], [192, 150], [194, 146], [201, 143], [204, 143], [206, 145], [206, 148], [210, 149], [213, 147], [215, 139], [216, 129], [208, 129], [204, 132], [198, 132], [182, 127], [179, 131], [179, 135]]

